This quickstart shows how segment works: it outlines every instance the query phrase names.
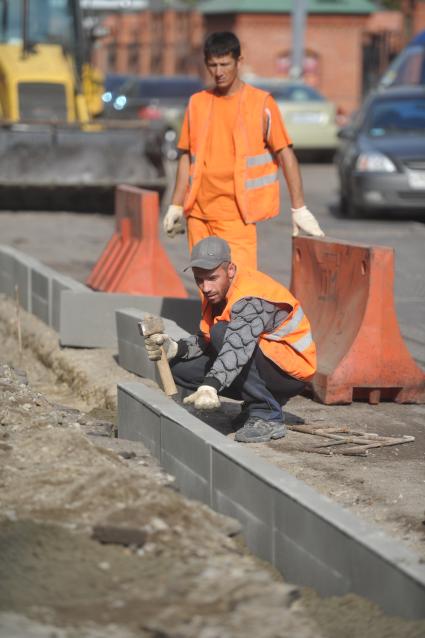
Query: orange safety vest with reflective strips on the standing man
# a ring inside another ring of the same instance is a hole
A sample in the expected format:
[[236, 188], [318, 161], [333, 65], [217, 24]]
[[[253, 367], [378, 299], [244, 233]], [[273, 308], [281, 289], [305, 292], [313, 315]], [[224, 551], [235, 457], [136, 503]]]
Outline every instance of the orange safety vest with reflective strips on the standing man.
[[[264, 141], [270, 129], [267, 125], [267, 131], [264, 130], [268, 95], [249, 84], [242, 87], [233, 131], [235, 196], [247, 224], [279, 214], [279, 165]], [[190, 173], [184, 202], [186, 214], [190, 213], [201, 184], [213, 99], [212, 91], [201, 91], [189, 101]]]

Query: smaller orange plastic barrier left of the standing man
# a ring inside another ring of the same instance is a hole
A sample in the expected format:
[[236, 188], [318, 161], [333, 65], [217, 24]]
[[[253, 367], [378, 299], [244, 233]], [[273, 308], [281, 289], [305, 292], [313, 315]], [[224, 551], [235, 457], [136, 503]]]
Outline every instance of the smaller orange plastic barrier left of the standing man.
[[159, 242], [158, 227], [158, 193], [118, 186], [115, 232], [87, 285], [106, 292], [187, 297], [183, 282]]

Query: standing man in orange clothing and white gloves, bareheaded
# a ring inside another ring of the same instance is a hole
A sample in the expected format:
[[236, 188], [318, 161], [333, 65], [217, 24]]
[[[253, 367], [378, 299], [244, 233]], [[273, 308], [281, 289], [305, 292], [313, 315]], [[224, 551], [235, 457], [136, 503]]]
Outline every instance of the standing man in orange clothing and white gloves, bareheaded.
[[256, 222], [279, 214], [279, 166], [291, 200], [293, 234], [324, 233], [305, 206], [298, 162], [279, 107], [269, 93], [239, 78], [238, 38], [231, 32], [212, 33], [204, 59], [215, 86], [189, 101], [164, 230], [170, 237], [184, 232], [186, 216], [189, 250], [215, 235], [228, 241], [238, 266], [256, 269]]

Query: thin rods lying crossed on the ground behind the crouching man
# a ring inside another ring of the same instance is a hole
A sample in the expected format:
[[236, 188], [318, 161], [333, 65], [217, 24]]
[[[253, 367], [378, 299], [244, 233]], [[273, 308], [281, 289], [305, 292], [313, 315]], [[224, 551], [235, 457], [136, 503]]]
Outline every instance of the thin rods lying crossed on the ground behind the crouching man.
[[[402, 445], [403, 443], [412, 443], [415, 440], [414, 436], [380, 436], [374, 432], [351, 430], [345, 425], [330, 428], [324, 428], [321, 425], [288, 425], [288, 428], [295, 432], [313, 434], [332, 439], [327, 443], [321, 443], [320, 445], [316, 445], [313, 448], [306, 450], [307, 452], [317, 452], [318, 454], [367, 456], [368, 451], [373, 448]], [[353, 447], [346, 447], [350, 444], [353, 444]]]

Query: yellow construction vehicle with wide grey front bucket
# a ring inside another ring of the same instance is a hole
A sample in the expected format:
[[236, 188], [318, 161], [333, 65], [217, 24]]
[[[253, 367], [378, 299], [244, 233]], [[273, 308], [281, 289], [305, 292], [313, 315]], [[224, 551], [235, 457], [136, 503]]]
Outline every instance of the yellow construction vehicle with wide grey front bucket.
[[0, 0], [1, 208], [102, 211], [119, 183], [164, 188], [151, 126], [94, 119], [82, 25], [79, 0]]

